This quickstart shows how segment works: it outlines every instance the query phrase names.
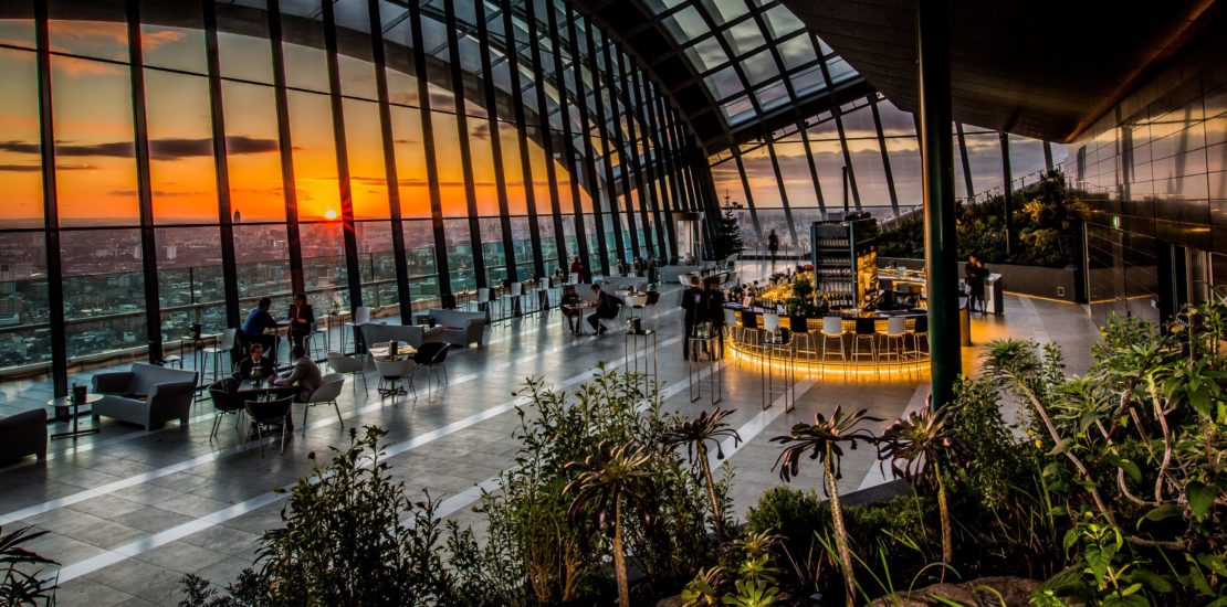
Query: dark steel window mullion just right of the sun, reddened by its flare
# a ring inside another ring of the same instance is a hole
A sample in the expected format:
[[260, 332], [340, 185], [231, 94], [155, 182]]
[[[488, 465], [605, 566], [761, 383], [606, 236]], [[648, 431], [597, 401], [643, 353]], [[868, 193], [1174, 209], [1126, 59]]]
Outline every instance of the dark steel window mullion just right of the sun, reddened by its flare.
[[345, 277], [350, 289], [350, 309], [357, 310], [362, 305], [362, 270], [358, 266], [358, 240], [353, 226], [353, 191], [350, 185], [350, 153], [345, 139], [345, 104], [341, 101], [341, 69], [336, 56], [336, 16], [333, 11], [333, 0], [324, 0], [323, 9], [324, 52], [328, 60], [333, 141], [336, 150], [336, 185], [337, 195], [341, 197], [341, 229], [345, 240]]

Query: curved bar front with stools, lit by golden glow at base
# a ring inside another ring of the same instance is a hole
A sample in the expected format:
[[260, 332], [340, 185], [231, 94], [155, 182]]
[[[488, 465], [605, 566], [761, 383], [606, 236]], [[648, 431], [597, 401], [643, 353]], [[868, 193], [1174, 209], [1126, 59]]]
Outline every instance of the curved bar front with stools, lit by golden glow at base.
[[[729, 305], [734, 359], [750, 364], [791, 365], [799, 373], [864, 376], [882, 373], [923, 375], [929, 369], [929, 319], [924, 310], [876, 313], [847, 310], [827, 316], [778, 315], [761, 308]], [[834, 321], [838, 320], [838, 331]], [[893, 320], [898, 319], [898, 320]], [[779, 341], [787, 347], [780, 348]]]

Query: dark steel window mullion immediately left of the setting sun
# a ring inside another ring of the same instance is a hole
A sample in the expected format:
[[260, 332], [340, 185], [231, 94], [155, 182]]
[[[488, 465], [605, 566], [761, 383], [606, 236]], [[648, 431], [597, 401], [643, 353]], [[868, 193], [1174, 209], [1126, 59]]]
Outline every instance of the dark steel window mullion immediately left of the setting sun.
[[290, 248], [290, 284], [307, 291], [302, 242], [298, 231], [298, 191], [294, 181], [293, 143], [290, 137], [290, 97], [286, 90], [286, 56], [281, 49], [281, 4], [269, 0], [269, 45], [272, 49], [272, 92], [277, 104], [277, 140], [281, 155], [281, 189], [286, 196], [286, 239]]

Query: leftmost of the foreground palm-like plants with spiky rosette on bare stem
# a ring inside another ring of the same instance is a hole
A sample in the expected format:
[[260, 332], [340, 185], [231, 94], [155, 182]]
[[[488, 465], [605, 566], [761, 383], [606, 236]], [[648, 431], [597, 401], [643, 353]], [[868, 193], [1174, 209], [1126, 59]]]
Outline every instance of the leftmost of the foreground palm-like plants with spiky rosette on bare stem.
[[596, 525], [602, 531], [614, 532], [614, 570], [617, 575], [618, 602], [631, 607], [631, 589], [626, 576], [626, 552], [622, 536], [622, 506], [631, 505], [645, 526], [653, 522], [648, 488], [652, 472], [648, 462], [652, 454], [636, 446], [633, 441], [614, 445], [602, 440], [596, 452], [584, 461], [567, 464], [567, 470], [578, 470], [579, 476], [567, 484], [563, 495], [574, 495], [568, 510], [572, 520], [579, 519], [589, 508], [596, 515]]

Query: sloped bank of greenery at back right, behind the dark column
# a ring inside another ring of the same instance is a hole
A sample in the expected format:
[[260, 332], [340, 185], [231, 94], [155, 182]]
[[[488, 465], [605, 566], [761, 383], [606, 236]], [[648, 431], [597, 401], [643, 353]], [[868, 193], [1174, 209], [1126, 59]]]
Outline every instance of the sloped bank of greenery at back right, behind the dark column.
[[[1072, 204], [1066, 196], [1065, 175], [1056, 169], [1014, 193], [1018, 246], [1009, 255], [1005, 196], [996, 195], [977, 205], [958, 202], [955, 222], [960, 259], [975, 255], [985, 264], [1065, 267], [1076, 250], [1076, 234], [1070, 229]], [[882, 256], [924, 259], [924, 215], [913, 213], [897, 229], [883, 231], [877, 243]]]

